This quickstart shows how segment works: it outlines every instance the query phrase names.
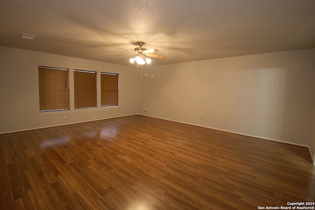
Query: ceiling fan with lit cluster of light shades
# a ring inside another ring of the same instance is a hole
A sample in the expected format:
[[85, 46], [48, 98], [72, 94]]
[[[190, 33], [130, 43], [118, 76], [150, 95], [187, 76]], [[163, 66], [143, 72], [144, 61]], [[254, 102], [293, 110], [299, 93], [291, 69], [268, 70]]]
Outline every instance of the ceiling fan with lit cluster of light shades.
[[142, 45], [144, 45], [144, 42], [138, 42], [139, 47], [134, 48], [133, 54], [130, 55], [137, 55], [135, 58], [131, 58], [129, 59], [129, 61], [131, 63], [134, 63], [134, 61], [137, 62], [137, 64], [145, 64], [145, 63], [150, 63], [151, 59], [147, 58], [149, 57], [153, 57], [153, 58], [158, 58], [158, 59], [165, 59], [165, 56], [160, 56], [160, 55], [155, 55], [152, 53], [158, 52], [157, 49], [150, 49], [147, 50], [146, 48], [142, 47]]

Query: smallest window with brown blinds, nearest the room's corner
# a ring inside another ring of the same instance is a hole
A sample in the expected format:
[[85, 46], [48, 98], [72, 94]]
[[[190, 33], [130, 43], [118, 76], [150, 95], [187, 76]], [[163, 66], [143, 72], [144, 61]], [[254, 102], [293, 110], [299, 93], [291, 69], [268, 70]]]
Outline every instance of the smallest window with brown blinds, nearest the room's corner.
[[100, 74], [101, 106], [118, 106], [118, 74]]

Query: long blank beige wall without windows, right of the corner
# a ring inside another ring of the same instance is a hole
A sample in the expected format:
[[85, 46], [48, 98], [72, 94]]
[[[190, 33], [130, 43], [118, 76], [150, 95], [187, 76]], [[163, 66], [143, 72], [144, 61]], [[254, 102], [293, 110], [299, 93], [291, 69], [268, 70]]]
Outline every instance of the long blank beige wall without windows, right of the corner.
[[310, 49], [143, 67], [139, 114], [309, 146], [314, 58]]

